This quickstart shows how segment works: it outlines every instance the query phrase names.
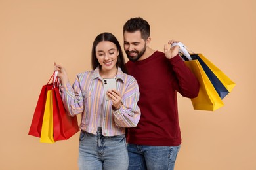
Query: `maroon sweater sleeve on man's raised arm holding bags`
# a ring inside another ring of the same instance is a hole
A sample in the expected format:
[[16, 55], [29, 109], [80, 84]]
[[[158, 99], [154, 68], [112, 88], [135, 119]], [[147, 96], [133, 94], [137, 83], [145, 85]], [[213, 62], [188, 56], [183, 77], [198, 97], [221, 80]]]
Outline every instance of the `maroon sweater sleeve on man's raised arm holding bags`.
[[198, 96], [199, 92], [199, 82], [196, 76], [186, 67], [184, 61], [182, 61], [181, 56], [177, 56], [169, 59], [171, 65], [173, 66], [173, 71], [177, 77], [176, 89], [183, 97], [194, 98]]

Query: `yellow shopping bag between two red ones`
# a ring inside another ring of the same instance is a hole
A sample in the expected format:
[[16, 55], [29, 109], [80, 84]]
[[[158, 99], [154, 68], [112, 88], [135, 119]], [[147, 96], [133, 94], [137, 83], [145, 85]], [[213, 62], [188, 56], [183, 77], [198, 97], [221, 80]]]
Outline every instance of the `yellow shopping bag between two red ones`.
[[54, 143], [52, 90], [47, 91], [47, 99], [45, 103], [45, 112], [43, 114], [43, 124], [42, 124], [40, 142]]

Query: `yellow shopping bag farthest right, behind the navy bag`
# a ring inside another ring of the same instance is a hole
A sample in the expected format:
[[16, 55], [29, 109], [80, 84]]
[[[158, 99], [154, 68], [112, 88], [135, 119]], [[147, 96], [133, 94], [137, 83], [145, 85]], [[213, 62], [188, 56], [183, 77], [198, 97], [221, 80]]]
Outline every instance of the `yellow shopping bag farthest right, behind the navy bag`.
[[200, 56], [200, 58], [203, 60], [203, 62], [205, 62], [209, 69], [213, 71], [215, 76], [217, 76], [217, 78], [221, 81], [223, 86], [225, 86], [228, 92], [231, 92], [236, 84], [232, 80], [230, 80], [230, 78], [228, 78], [228, 76], [226, 76], [218, 67], [211, 63], [209, 59], [205, 58], [205, 56], [203, 56], [202, 54], [198, 54], [198, 56]]

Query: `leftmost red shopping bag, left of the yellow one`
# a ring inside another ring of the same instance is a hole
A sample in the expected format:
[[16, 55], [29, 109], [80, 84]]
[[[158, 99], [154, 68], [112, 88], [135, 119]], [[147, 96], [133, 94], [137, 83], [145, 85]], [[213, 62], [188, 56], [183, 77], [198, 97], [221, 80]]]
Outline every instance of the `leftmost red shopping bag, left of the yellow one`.
[[[54, 74], [53, 74], [54, 75]], [[35, 112], [33, 114], [32, 123], [30, 125], [30, 130], [28, 135], [32, 135], [35, 137], [41, 136], [41, 128], [43, 123], [43, 113], [45, 112], [45, 102], [47, 98], [47, 90], [51, 90], [53, 87], [53, 82], [49, 84], [52, 80], [53, 75], [49, 79], [46, 85], [41, 88], [41, 92], [37, 101], [37, 105], [35, 107]]]

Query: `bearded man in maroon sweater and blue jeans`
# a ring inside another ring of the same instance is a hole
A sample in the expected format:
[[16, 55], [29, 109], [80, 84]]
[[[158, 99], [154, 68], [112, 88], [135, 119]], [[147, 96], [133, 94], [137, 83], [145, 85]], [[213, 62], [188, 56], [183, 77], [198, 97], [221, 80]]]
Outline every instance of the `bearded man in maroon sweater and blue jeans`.
[[[129, 75], [139, 84], [141, 117], [137, 127], [127, 129], [129, 169], [174, 169], [181, 144], [177, 92], [194, 98], [199, 84], [179, 56], [179, 46], [164, 53], [150, 44], [150, 25], [131, 18], [123, 25], [124, 50], [130, 61]], [[169, 41], [173, 44], [178, 41]]]

